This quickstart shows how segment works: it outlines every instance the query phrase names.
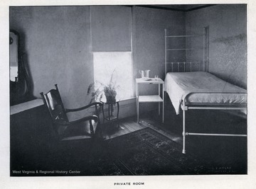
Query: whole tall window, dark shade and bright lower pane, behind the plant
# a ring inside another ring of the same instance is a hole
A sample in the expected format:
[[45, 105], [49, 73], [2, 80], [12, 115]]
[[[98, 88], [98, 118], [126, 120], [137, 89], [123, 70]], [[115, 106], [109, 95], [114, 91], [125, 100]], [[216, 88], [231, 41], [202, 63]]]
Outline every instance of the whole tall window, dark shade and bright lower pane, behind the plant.
[[90, 17], [95, 81], [109, 83], [114, 71], [117, 100], [133, 97], [132, 8], [92, 6]]

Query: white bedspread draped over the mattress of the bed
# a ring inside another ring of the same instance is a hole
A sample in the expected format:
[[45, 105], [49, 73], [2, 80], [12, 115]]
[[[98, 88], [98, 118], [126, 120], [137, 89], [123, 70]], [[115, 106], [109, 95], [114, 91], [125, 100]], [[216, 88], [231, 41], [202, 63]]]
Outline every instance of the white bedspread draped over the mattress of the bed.
[[190, 92], [220, 92], [220, 93], [195, 93], [188, 97], [191, 103], [246, 103], [247, 96], [244, 93], [221, 92], [245, 92], [246, 90], [229, 84], [206, 71], [173, 72], [167, 73], [164, 81], [165, 91], [171, 98], [176, 114], [180, 112], [183, 96]]

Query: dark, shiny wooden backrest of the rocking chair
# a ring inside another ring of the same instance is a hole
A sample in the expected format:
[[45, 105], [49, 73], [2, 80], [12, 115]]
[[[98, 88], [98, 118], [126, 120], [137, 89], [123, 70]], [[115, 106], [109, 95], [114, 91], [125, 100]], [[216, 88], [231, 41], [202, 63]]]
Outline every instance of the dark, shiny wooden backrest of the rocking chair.
[[55, 89], [51, 89], [48, 93], [40, 93], [43, 98], [43, 103], [47, 106], [53, 123], [56, 121], [68, 122], [68, 116], [65, 113], [65, 108], [58, 91], [58, 85], [55, 84]]

